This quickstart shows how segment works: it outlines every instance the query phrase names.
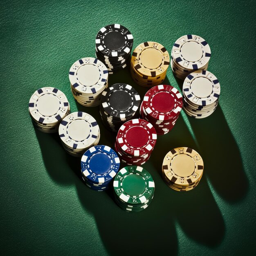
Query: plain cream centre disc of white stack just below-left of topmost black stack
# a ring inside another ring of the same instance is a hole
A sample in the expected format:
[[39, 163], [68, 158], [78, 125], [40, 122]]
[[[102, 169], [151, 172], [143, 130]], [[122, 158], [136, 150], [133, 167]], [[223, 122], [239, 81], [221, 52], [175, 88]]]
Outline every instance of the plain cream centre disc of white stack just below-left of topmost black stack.
[[100, 71], [97, 66], [86, 64], [77, 70], [78, 81], [85, 86], [92, 86], [98, 83], [100, 79]]

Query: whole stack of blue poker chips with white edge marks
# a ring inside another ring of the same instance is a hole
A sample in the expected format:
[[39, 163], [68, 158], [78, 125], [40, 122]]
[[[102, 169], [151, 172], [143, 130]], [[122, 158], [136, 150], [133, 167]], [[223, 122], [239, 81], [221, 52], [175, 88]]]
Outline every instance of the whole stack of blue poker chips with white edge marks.
[[104, 191], [112, 185], [119, 166], [119, 157], [112, 148], [105, 145], [91, 147], [81, 159], [83, 181], [92, 190]]

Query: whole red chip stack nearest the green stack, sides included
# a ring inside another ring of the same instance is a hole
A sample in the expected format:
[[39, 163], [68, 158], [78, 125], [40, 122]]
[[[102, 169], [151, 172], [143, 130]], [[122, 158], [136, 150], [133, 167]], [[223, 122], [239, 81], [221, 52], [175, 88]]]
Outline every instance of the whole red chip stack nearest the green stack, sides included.
[[143, 119], [132, 119], [120, 127], [115, 150], [122, 162], [141, 165], [149, 159], [156, 141], [157, 134], [152, 124]]

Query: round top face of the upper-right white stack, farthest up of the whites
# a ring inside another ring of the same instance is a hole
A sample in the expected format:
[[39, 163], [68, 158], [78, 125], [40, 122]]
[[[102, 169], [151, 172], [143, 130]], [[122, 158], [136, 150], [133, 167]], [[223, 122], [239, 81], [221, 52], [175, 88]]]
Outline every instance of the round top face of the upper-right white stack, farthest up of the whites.
[[174, 43], [172, 57], [185, 69], [198, 70], [209, 62], [211, 49], [202, 37], [186, 35]]

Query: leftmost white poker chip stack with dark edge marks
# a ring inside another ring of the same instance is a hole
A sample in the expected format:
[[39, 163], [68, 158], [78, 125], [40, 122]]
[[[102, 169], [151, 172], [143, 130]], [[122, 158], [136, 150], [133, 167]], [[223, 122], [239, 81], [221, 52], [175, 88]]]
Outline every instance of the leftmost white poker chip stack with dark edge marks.
[[61, 120], [70, 112], [67, 97], [53, 87], [36, 90], [29, 99], [29, 114], [34, 126], [47, 133], [58, 132]]

